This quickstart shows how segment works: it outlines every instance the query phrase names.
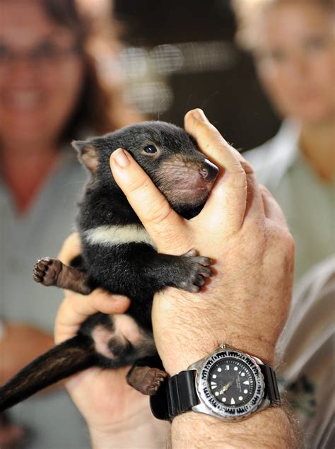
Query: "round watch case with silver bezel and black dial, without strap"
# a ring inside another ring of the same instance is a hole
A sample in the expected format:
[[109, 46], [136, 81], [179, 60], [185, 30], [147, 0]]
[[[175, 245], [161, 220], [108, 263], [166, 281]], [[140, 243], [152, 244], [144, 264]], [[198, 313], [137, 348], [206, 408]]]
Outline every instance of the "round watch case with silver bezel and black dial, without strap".
[[252, 358], [227, 350], [207, 359], [198, 375], [197, 388], [213, 412], [236, 419], [257, 409], [264, 395], [264, 380]]

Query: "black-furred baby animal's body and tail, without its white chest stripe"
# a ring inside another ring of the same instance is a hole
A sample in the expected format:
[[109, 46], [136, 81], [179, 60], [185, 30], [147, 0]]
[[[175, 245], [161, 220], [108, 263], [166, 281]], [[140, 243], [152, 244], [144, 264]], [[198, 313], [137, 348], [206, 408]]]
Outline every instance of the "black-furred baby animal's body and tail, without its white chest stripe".
[[[194, 250], [172, 256], [158, 253], [150, 241], [106, 245], [90, 239], [90, 231], [101, 226], [119, 226], [123, 232], [130, 225], [143, 234], [139, 218], [110, 172], [110, 155], [117, 148], [125, 148], [134, 156], [184, 218], [199, 213], [218, 169], [199, 152], [184, 130], [164, 122], [143, 122], [88, 141], [74, 142], [74, 146], [90, 170], [77, 220], [83, 254], [74, 261], [76, 268], [48, 258], [37, 262], [34, 279], [81, 293], [100, 286], [111, 293], [128, 296], [131, 305], [127, 320], [138, 326], [134, 328], [136, 337], [129, 337], [124, 331], [123, 318], [102, 313], [89, 317], [76, 337], [35, 359], [0, 388], [0, 411], [88, 366], [118, 368], [136, 364], [140, 367], [145, 365], [144, 361], [152, 363], [157, 356], [151, 327], [154, 293], [165, 286], [199, 291], [204, 278], [211, 276], [210, 260], [197, 256]], [[102, 351], [98, 345], [99, 332], [110, 336]], [[154, 369], [150, 375], [153, 380], [149, 381], [142, 371], [136, 375], [131, 371], [128, 380], [142, 392], [153, 394], [165, 373]]]

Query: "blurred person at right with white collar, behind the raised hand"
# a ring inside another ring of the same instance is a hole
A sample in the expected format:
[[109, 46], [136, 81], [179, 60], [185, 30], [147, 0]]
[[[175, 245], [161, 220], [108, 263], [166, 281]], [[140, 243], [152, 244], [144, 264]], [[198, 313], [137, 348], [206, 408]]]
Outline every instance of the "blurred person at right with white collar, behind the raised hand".
[[252, 51], [264, 91], [283, 117], [278, 134], [245, 156], [286, 214], [297, 281], [334, 252], [335, 4], [234, 4], [238, 42]]

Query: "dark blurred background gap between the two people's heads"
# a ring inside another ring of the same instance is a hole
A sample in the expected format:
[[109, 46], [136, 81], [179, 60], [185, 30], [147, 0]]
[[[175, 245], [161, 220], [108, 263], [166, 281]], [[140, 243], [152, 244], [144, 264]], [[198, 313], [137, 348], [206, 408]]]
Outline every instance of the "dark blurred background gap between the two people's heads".
[[261, 91], [251, 57], [234, 43], [236, 25], [229, 0], [114, 0], [114, 11], [123, 24], [122, 40], [129, 46], [208, 41], [229, 45], [230, 64], [167, 76], [174, 99], [160, 119], [182, 125], [187, 110], [201, 107], [237, 148], [252, 148], [274, 136], [279, 119]]

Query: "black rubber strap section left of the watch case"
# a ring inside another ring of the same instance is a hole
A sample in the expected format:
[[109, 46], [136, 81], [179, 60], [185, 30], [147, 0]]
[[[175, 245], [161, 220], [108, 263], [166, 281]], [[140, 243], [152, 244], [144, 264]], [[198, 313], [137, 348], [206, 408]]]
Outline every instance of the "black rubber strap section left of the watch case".
[[195, 387], [196, 371], [181, 371], [165, 380], [158, 394], [150, 397], [153, 416], [157, 419], [172, 419], [199, 404]]

